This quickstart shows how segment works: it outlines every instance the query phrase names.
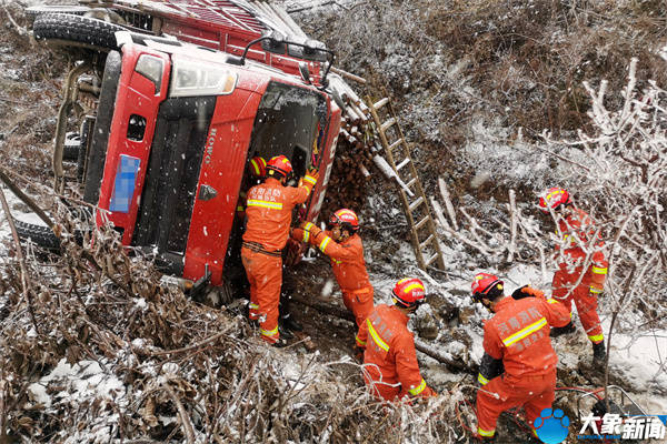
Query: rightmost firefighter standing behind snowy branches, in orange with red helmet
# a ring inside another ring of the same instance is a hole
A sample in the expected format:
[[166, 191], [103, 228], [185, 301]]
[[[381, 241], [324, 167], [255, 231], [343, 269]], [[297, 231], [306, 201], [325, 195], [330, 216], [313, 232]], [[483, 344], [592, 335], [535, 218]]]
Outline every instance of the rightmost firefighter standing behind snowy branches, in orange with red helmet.
[[[557, 255], [558, 270], [554, 273], [551, 282], [552, 297], [563, 302], [570, 312], [574, 300], [581, 325], [593, 343], [594, 363], [603, 364], [607, 353], [597, 307], [608, 268], [601, 251], [604, 242], [599, 238], [593, 239], [596, 235], [595, 222], [586, 212], [574, 206], [567, 190], [547, 190], [539, 199], [539, 206], [545, 213], [552, 214], [558, 225], [556, 233], [561, 239], [560, 245], [556, 246], [557, 254], [561, 254]], [[589, 249], [590, 255], [581, 245], [587, 245], [586, 250]], [[570, 323], [564, 329], [554, 329], [551, 335], [558, 336], [574, 331], [575, 326]]]

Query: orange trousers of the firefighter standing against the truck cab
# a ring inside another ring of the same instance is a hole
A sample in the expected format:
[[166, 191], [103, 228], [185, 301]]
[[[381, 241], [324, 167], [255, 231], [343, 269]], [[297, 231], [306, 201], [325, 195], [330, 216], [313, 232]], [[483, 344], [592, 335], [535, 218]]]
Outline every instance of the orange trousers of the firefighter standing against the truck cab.
[[282, 258], [241, 249], [241, 261], [250, 282], [251, 320], [259, 320], [261, 339], [278, 341], [278, 303], [282, 285]]

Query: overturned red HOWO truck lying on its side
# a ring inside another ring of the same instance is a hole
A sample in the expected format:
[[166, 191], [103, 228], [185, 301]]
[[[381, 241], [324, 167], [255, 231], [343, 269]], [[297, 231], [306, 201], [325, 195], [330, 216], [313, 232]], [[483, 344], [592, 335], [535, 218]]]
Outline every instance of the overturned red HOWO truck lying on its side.
[[223, 284], [226, 262], [240, 264], [235, 213], [256, 155], [287, 155], [297, 178], [317, 167], [298, 211], [318, 215], [344, 105], [327, 78], [334, 53], [285, 11], [138, 0], [28, 12], [38, 40], [78, 60], [58, 117], [56, 188], [78, 180], [96, 222], [111, 222], [125, 245], [168, 274]]

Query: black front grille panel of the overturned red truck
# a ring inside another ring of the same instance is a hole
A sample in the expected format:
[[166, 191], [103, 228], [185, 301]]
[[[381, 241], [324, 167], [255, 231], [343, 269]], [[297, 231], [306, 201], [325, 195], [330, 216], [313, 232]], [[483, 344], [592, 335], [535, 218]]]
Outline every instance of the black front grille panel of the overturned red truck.
[[215, 97], [173, 98], [160, 104], [133, 245], [155, 245], [163, 256], [185, 254], [215, 108]]

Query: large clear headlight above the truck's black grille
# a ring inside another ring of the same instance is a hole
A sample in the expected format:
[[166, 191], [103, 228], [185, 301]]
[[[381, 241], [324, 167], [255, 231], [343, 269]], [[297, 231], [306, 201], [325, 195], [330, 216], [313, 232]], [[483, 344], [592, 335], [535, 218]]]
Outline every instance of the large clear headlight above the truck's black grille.
[[225, 67], [172, 56], [170, 97], [230, 94], [238, 75]]

